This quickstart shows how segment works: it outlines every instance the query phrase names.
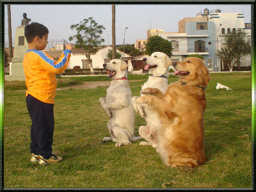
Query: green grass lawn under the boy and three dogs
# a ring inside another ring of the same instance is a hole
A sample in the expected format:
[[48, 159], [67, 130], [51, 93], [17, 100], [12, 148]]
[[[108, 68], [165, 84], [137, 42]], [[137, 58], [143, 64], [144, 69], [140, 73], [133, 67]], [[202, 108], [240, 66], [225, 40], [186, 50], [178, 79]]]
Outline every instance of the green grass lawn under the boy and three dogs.
[[[148, 75], [130, 82], [132, 95], [140, 95]], [[106, 76], [62, 77], [58, 87], [83, 81], [109, 81]], [[170, 76], [168, 82], [177, 81]], [[232, 91], [216, 90], [217, 83]], [[24, 82], [4, 83], [4, 188], [252, 188], [252, 90], [250, 73], [211, 74], [205, 90], [204, 146], [207, 161], [196, 168], [165, 166], [156, 149], [141, 140], [115, 148], [109, 136], [108, 116], [100, 97], [107, 86], [60, 90], [54, 105], [53, 151], [63, 156], [58, 164], [42, 166], [30, 160], [30, 125]], [[138, 127], [145, 125], [139, 115]], [[249, 138], [238, 136], [249, 135]]]

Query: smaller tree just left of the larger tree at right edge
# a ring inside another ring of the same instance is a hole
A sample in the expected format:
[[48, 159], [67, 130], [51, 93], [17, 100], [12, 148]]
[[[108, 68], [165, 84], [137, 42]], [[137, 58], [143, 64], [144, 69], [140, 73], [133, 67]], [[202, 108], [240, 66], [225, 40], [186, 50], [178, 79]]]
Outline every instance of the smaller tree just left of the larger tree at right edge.
[[220, 50], [217, 50], [216, 56], [218, 56], [221, 61], [227, 63], [230, 71], [233, 70], [233, 67], [235, 64], [234, 63], [235, 54], [231, 49], [228, 49], [227, 47], [221, 47]]

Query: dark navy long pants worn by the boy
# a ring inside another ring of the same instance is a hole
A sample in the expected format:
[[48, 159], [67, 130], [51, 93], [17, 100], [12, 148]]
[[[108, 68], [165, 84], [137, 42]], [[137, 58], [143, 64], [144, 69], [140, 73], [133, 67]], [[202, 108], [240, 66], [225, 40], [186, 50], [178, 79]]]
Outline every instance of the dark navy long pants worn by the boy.
[[49, 159], [52, 156], [54, 104], [42, 102], [29, 94], [26, 102], [32, 121], [30, 152]]

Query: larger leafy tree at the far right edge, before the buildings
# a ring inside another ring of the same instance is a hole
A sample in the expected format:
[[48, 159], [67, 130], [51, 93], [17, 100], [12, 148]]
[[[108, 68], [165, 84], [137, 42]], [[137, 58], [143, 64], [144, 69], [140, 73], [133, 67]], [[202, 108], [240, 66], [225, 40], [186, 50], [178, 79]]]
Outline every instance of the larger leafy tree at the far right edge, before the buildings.
[[244, 31], [232, 31], [232, 33], [225, 36], [225, 42], [227, 49], [234, 54], [234, 61], [231, 61], [233, 63], [232, 68], [237, 64], [239, 70], [241, 56], [251, 54], [250, 36]]

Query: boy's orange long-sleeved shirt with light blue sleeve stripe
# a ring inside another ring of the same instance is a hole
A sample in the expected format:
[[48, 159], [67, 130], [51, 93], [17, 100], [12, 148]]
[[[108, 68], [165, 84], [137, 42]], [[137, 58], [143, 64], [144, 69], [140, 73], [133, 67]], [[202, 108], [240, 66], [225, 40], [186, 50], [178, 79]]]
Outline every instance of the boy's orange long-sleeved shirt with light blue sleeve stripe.
[[29, 49], [23, 60], [28, 94], [45, 103], [54, 104], [57, 80], [55, 74], [63, 72], [70, 60], [71, 51], [65, 49], [60, 59], [54, 61], [49, 54]]

